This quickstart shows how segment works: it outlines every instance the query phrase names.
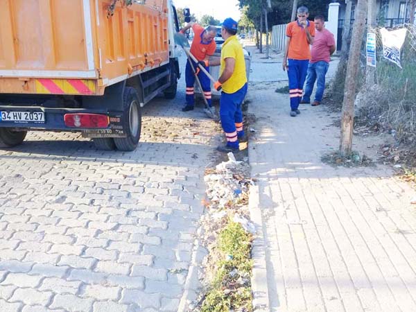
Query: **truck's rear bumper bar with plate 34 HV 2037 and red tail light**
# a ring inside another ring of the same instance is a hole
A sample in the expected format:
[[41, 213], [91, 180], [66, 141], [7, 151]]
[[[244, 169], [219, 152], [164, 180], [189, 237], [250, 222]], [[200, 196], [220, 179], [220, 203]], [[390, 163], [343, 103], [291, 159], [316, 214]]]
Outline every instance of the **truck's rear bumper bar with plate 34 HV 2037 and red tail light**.
[[0, 105], [0, 128], [82, 132], [83, 137], [126, 137], [122, 112]]

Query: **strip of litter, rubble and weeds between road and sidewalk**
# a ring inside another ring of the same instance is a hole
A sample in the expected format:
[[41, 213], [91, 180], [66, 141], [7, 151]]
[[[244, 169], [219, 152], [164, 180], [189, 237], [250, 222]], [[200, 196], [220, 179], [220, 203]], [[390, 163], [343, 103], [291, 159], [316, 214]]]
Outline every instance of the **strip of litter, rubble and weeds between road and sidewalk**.
[[[198, 275], [203, 290], [198, 300], [189, 305], [189, 311], [207, 311], [212, 309], [207, 306], [226, 304], [240, 294], [244, 298], [242, 306], [240, 309], [233, 306], [234, 311], [249, 311], [245, 306], [249, 301], [251, 304], [250, 248], [255, 228], [248, 211], [248, 195], [253, 183], [248, 161], [238, 162], [228, 153], [227, 162], [205, 171], [205, 183], [207, 212], [201, 219], [199, 239], [207, 249], [207, 256]], [[245, 245], [249, 250], [242, 261], [236, 259], [241, 254], [235, 253], [234, 248], [227, 252], [224, 247], [232, 245], [237, 236], [237, 240], [247, 241]]]

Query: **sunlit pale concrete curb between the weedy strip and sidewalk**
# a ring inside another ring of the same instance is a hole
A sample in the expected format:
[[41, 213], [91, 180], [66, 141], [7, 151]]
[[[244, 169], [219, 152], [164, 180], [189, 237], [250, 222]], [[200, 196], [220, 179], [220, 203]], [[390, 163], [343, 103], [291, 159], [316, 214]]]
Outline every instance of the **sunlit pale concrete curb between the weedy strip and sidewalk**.
[[269, 312], [268, 283], [266, 270], [266, 248], [263, 234], [263, 220], [259, 207], [259, 186], [250, 187], [248, 209], [250, 218], [256, 227], [256, 235], [252, 246], [252, 295], [254, 312]]

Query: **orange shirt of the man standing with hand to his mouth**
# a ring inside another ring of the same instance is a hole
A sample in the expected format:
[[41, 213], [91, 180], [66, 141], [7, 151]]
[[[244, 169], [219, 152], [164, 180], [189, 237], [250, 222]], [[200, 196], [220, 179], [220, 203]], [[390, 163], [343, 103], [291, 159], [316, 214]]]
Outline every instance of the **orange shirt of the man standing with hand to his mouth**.
[[[315, 37], [315, 23], [308, 21], [309, 33]], [[291, 37], [289, 44], [288, 58], [294, 60], [310, 60], [311, 49], [309, 48], [306, 30], [297, 21], [291, 21], [286, 26], [286, 36]]]

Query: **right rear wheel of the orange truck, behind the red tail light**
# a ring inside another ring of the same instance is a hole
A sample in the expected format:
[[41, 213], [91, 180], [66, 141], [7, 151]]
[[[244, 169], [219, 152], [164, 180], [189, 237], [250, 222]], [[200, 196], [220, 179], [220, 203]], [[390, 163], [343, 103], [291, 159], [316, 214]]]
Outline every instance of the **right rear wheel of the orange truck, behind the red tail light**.
[[141, 107], [135, 89], [125, 87], [123, 95], [123, 129], [127, 137], [115, 137], [118, 150], [131, 151], [137, 148], [141, 133]]

